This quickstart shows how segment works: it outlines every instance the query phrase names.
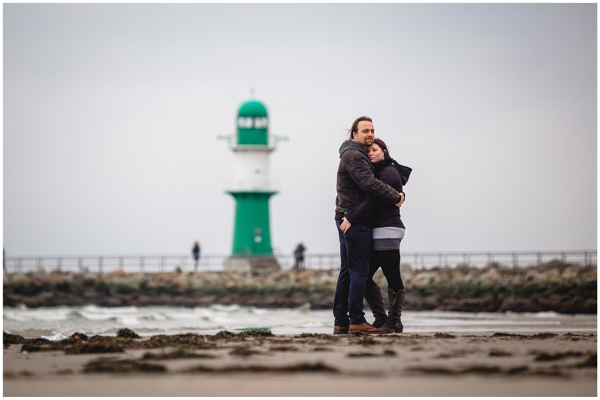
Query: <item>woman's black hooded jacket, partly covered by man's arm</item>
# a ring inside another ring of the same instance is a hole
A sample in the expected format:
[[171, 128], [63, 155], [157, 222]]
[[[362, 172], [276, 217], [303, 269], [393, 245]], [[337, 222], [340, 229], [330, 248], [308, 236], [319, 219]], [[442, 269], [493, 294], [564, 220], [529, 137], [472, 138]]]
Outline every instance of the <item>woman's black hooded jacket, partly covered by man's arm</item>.
[[[409, 167], [401, 166], [393, 158], [389, 157], [387, 151], [383, 151], [384, 158], [375, 166], [375, 178], [384, 184], [390, 185], [398, 192], [402, 191], [402, 184], [406, 184], [409, 179]], [[372, 216], [371, 216], [372, 215]], [[350, 224], [371, 216], [371, 228], [400, 227], [404, 224], [400, 219], [400, 210], [394, 204], [386, 204], [368, 196], [346, 213], [346, 219]]]

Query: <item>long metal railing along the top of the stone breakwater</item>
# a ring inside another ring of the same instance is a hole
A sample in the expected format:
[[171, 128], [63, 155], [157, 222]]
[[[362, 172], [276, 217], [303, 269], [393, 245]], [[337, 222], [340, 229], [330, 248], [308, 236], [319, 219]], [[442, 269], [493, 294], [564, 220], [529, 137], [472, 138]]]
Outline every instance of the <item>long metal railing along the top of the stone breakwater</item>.
[[[296, 260], [292, 254], [275, 254], [284, 270], [292, 269]], [[191, 255], [150, 254], [150, 255], [37, 255], [6, 256], [4, 272], [31, 272], [43, 268], [46, 271], [64, 272], [173, 272], [182, 271], [220, 271], [226, 254], [202, 255], [197, 267]], [[580, 251], [479, 251], [479, 252], [401, 252], [401, 265], [412, 269], [431, 269], [434, 267], [469, 266], [484, 267], [491, 263], [503, 266], [529, 267], [541, 266], [550, 261], [580, 266], [597, 266], [596, 250]], [[306, 269], [338, 269], [339, 253], [306, 254], [301, 267]]]

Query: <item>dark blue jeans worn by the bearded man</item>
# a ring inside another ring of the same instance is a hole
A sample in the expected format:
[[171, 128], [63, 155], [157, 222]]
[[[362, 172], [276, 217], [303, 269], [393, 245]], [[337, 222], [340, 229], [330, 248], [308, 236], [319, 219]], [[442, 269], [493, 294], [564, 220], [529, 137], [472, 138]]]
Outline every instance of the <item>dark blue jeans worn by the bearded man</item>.
[[365, 313], [362, 312], [362, 299], [365, 296], [365, 282], [369, 274], [371, 228], [353, 224], [343, 233], [340, 230], [342, 222], [341, 219], [335, 221], [340, 236], [341, 257], [340, 276], [334, 297], [335, 326], [367, 322]]

